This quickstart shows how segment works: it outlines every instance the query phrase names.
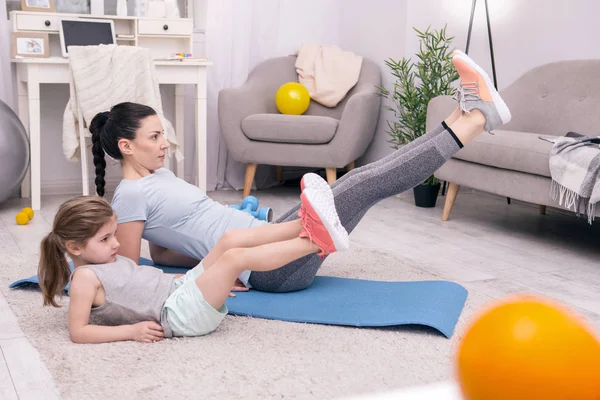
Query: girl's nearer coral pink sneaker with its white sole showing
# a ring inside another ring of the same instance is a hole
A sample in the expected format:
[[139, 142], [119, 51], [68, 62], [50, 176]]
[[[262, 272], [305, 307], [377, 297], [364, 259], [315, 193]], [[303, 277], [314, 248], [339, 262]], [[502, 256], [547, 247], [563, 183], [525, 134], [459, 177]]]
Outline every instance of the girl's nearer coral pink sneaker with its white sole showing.
[[321, 258], [336, 251], [347, 250], [350, 239], [339, 222], [333, 197], [330, 199], [326, 192], [307, 187], [300, 199], [300, 218], [304, 227], [300, 237], [309, 238], [316, 243], [321, 249], [318, 253]]

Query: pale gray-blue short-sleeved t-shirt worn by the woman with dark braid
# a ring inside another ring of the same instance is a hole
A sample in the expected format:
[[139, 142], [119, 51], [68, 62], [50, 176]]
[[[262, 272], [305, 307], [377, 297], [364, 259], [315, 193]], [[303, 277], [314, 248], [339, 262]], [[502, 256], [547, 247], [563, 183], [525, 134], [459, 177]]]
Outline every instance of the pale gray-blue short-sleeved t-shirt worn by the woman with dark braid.
[[[122, 180], [112, 201], [119, 224], [145, 221], [142, 238], [202, 260], [228, 230], [264, 224], [212, 200], [167, 168], [138, 180]], [[240, 275], [248, 286], [249, 271]]]

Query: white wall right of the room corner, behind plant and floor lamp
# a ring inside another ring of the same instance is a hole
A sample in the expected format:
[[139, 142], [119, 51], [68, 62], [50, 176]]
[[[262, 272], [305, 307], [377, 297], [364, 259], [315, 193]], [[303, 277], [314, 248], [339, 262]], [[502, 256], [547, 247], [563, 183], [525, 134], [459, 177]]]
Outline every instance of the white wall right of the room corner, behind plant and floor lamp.
[[[558, 60], [599, 58], [596, 0], [488, 0], [500, 89], [533, 67]], [[407, 29], [431, 24], [465, 49], [471, 0], [408, 0]], [[406, 51], [418, 48], [407, 36]], [[477, 2], [469, 55], [492, 76], [483, 0]]]

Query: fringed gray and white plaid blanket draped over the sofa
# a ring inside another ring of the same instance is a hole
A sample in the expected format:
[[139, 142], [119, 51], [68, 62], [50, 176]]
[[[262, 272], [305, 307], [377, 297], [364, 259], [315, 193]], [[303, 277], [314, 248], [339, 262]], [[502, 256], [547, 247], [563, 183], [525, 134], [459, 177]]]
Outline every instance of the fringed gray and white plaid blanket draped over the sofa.
[[600, 200], [600, 136], [569, 132], [540, 138], [554, 143], [550, 152], [550, 197], [578, 217], [583, 208], [591, 224]]

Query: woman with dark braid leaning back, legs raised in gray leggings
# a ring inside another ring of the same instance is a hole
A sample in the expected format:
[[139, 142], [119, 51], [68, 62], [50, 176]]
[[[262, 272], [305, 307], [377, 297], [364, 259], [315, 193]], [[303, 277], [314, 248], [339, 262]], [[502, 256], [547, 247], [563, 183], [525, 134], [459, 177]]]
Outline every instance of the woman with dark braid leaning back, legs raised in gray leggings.
[[[418, 185], [469, 141], [510, 120], [506, 104], [485, 72], [463, 53], [456, 53], [452, 62], [461, 80], [459, 107], [432, 132], [377, 162], [352, 170], [331, 186], [340, 223], [348, 232], [377, 202]], [[265, 223], [214, 202], [199, 188], [162, 168], [169, 145], [151, 108], [118, 104], [110, 112], [96, 115], [90, 131], [100, 196], [104, 194], [104, 153], [121, 160], [123, 168], [123, 181], [112, 203], [119, 224], [119, 254], [138, 262], [141, 239], [145, 238], [154, 262], [193, 267], [226, 231]], [[302, 186], [312, 182], [303, 180]], [[276, 223], [298, 219], [298, 210], [299, 206], [289, 210]], [[322, 261], [312, 254], [274, 271], [244, 271], [234, 290], [304, 289], [312, 283]]]

